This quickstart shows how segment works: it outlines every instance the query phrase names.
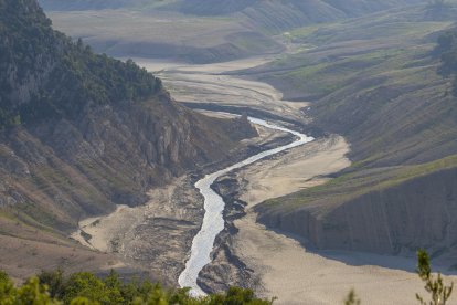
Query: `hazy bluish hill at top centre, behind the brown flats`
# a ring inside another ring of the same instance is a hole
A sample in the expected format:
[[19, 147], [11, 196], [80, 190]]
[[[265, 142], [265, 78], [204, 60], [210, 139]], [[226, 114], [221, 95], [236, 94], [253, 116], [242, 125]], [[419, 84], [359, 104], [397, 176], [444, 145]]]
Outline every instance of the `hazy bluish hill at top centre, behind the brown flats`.
[[211, 0], [182, 0], [170, 4], [170, 8], [198, 15], [234, 14], [247, 19], [256, 27], [280, 32], [306, 24], [360, 17], [423, 2], [423, 0], [230, 0], [214, 4]]

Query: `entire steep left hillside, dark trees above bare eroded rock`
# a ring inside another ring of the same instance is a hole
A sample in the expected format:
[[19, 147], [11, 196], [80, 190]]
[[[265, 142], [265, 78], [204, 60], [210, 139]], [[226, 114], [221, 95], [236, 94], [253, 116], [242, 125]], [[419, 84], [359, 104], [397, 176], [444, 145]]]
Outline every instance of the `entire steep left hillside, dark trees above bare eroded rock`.
[[247, 120], [195, 114], [131, 61], [53, 31], [35, 0], [2, 0], [0, 17], [3, 235], [68, 246], [79, 219], [141, 204], [149, 188], [225, 159], [253, 135]]

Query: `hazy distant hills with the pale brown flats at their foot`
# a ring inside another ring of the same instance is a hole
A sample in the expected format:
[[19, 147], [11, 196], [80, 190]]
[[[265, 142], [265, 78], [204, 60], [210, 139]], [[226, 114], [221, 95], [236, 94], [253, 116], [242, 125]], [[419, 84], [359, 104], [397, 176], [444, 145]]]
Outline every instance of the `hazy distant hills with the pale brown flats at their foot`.
[[57, 29], [97, 52], [193, 63], [279, 53], [279, 33], [424, 1], [40, 0]]

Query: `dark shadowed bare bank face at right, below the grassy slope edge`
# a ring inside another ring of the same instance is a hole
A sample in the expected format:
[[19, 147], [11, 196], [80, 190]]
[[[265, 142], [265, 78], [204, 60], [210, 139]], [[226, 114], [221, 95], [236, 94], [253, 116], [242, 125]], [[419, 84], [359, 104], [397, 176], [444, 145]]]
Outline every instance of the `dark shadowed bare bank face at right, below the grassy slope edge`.
[[457, 243], [457, 168], [371, 191], [325, 213], [319, 209], [287, 213], [264, 206], [258, 219], [319, 249], [398, 254], [426, 248], [435, 255], [451, 253]]

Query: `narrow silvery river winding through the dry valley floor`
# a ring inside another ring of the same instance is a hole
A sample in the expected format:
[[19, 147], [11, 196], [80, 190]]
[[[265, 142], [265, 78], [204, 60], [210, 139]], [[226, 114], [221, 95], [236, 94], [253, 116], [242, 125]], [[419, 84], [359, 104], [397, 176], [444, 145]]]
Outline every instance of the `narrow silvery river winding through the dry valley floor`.
[[210, 254], [213, 250], [214, 240], [217, 236], [217, 234], [224, 229], [223, 211], [225, 202], [215, 191], [211, 189], [211, 185], [213, 185], [219, 177], [234, 169], [242, 168], [244, 166], [258, 161], [265, 157], [281, 152], [286, 149], [294, 148], [313, 140], [312, 137], [308, 137], [301, 133], [290, 130], [288, 128], [272, 123], [267, 123], [266, 120], [259, 118], [248, 117], [248, 119], [251, 123], [256, 125], [289, 133], [296, 136], [296, 140], [288, 145], [262, 151], [241, 162], [221, 169], [216, 172], [206, 175], [203, 179], [195, 182], [195, 187], [204, 197], [205, 214], [203, 218], [202, 228], [192, 241], [190, 259], [185, 263], [185, 269], [180, 274], [178, 280], [178, 283], [181, 287], [191, 287], [192, 295], [205, 295], [205, 293], [196, 284], [196, 278], [199, 277], [200, 271], [211, 262]]

